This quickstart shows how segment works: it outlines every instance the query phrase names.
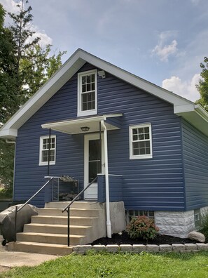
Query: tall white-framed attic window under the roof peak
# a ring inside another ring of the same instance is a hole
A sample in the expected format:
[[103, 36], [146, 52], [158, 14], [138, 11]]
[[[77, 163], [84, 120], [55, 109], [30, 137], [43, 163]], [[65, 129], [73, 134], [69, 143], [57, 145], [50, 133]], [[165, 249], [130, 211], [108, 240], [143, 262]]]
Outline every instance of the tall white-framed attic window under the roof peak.
[[97, 70], [78, 73], [78, 116], [97, 114]]

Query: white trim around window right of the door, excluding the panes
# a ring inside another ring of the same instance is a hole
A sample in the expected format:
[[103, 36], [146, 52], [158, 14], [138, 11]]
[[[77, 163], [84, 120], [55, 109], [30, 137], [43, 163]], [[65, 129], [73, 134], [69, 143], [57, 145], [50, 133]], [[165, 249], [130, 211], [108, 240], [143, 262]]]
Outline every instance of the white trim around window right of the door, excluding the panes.
[[[139, 155], [133, 155], [133, 149], [132, 149], [132, 130], [134, 128], [144, 128], [148, 127], [149, 128], [149, 136], [150, 136], [150, 154], [139, 154]], [[152, 147], [152, 128], [151, 124], [138, 124], [135, 126], [130, 126], [129, 127], [129, 135], [130, 135], [130, 159], [151, 159], [153, 158], [153, 147]]]

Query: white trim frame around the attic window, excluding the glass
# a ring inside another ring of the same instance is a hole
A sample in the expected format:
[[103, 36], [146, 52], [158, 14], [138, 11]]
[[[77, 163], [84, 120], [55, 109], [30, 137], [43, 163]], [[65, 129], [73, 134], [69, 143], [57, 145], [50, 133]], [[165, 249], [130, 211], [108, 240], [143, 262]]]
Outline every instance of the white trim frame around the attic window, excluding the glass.
[[[82, 103], [81, 103], [81, 77], [87, 74], [95, 74], [95, 109], [82, 111]], [[97, 114], [97, 69], [88, 70], [87, 72], [78, 73], [78, 92], [77, 92], [77, 116], [89, 116]]]

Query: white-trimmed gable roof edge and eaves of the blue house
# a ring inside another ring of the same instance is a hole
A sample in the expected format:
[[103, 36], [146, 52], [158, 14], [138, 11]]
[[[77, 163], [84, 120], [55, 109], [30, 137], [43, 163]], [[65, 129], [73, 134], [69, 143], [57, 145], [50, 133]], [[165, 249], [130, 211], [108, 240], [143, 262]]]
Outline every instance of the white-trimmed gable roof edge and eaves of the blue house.
[[78, 49], [71, 57], [64, 62], [64, 65], [57, 70], [46, 84], [30, 98], [20, 110], [0, 130], [0, 137], [15, 140], [18, 136], [18, 128], [32, 117], [78, 70], [88, 62], [95, 67], [103, 69], [114, 76], [123, 79], [129, 84], [155, 95], [174, 105], [174, 113], [196, 126], [202, 133], [208, 135], [208, 113], [194, 102], [186, 100], [179, 95], [165, 90], [151, 82], [137, 77], [130, 72], [120, 69], [109, 62], [106, 62], [95, 55], [82, 49]]

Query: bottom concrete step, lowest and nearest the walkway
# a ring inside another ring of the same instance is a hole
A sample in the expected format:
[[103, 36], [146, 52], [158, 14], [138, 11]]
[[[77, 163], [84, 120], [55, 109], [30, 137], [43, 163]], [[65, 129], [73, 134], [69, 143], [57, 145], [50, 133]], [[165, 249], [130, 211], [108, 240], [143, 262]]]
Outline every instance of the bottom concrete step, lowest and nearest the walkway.
[[8, 251], [19, 251], [27, 253], [40, 253], [50, 255], [69, 255], [72, 252], [72, 247], [62, 244], [43, 244], [30, 241], [9, 242]]

